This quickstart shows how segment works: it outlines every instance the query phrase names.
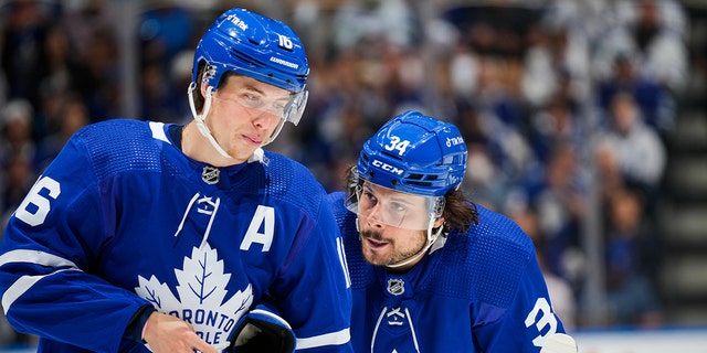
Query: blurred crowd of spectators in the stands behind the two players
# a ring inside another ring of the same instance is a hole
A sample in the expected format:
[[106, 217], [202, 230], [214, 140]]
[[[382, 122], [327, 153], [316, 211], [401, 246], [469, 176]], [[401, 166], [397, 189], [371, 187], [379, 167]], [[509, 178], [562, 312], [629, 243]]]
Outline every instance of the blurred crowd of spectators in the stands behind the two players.
[[[592, 210], [604, 324], [659, 324], [657, 210], [690, 69], [679, 1], [138, 1], [136, 73], [120, 63], [128, 49], [116, 3], [2, 2], [3, 222], [81, 127], [189, 121], [197, 40], [223, 9], [242, 6], [291, 24], [312, 67], [302, 122], [267, 148], [334, 191], [362, 141], [395, 114], [415, 108], [455, 122], [469, 149], [466, 193], [536, 240], [569, 329], [584, 325], [582, 234]], [[136, 75], [137, 116], [125, 116], [127, 75]], [[1, 342], [29, 339], [0, 322]]]

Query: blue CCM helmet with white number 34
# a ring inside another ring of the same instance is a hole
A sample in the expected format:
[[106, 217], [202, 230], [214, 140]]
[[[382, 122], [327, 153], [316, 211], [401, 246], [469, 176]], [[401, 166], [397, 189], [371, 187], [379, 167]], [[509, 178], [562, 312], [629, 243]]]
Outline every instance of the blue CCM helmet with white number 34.
[[466, 143], [454, 125], [410, 110], [363, 143], [358, 175], [408, 194], [444, 196], [462, 184], [466, 156]]

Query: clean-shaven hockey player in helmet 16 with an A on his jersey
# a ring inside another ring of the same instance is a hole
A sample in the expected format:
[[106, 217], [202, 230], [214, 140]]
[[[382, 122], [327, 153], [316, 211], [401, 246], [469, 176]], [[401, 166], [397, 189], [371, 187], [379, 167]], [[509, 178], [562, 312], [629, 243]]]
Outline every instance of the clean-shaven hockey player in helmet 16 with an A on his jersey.
[[186, 126], [78, 131], [0, 245], [2, 308], [40, 352], [350, 352], [324, 189], [261, 147], [307, 100], [284, 23], [224, 12], [199, 42]]

